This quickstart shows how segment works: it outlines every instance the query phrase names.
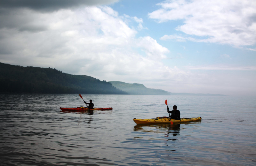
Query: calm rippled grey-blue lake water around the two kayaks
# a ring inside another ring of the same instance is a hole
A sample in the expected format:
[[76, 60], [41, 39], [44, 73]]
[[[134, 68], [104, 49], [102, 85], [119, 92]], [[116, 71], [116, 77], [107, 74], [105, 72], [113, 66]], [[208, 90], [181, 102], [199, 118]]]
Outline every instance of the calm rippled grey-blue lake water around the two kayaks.
[[[1, 94], [1, 166], [256, 165], [255, 97], [82, 96], [113, 110], [60, 112], [85, 106], [79, 94]], [[202, 121], [133, 122], [168, 116], [165, 99]]]

